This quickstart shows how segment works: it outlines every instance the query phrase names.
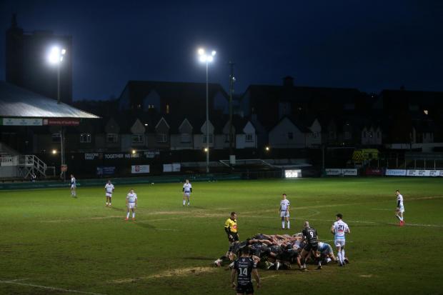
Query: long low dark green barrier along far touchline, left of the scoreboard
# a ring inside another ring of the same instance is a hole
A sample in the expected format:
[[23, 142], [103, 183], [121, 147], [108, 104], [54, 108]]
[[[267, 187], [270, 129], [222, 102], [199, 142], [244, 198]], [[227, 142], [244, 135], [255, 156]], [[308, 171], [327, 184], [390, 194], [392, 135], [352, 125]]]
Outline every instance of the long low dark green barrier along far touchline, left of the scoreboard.
[[[176, 175], [176, 176], [149, 176], [137, 178], [110, 178], [113, 184], [164, 184], [184, 182], [189, 179], [195, 181], [223, 181], [242, 179], [242, 174], [201, 174], [201, 175]], [[104, 186], [107, 179], [77, 179], [77, 186]], [[0, 184], [0, 190], [10, 189], [54, 189], [69, 188], [69, 181], [36, 181], [36, 182], [14, 182]]]

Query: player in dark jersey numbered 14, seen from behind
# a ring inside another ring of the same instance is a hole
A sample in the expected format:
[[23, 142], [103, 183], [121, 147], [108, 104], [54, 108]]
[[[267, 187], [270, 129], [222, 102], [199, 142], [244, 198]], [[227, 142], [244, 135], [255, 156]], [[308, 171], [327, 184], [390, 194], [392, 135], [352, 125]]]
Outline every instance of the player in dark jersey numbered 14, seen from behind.
[[[257, 281], [257, 288], [260, 288], [260, 276], [257, 271], [257, 264], [249, 257], [249, 248], [240, 249], [241, 256], [234, 262], [234, 269], [231, 271], [232, 289], [236, 289], [237, 295], [254, 294], [251, 274]], [[237, 274], [237, 285], [235, 284], [235, 275]]]

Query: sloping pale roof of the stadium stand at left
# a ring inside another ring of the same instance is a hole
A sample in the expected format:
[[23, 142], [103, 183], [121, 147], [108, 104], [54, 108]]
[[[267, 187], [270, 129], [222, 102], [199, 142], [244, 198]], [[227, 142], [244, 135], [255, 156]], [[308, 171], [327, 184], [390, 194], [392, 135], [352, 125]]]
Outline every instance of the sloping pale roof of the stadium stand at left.
[[99, 119], [68, 104], [0, 81], [0, 117]]

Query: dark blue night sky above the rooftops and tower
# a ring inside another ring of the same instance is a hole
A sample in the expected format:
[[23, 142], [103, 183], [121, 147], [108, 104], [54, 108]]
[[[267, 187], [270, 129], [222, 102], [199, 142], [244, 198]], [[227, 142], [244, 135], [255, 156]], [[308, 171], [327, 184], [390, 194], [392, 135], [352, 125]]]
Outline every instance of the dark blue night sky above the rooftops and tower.
[[73, 36], [74, 99], [119, 96], [128, 80], [204, 82], [196, 49], [217, 51], [209, 81], [443, 91], [443, 1], [0, 0], [5, 31]]

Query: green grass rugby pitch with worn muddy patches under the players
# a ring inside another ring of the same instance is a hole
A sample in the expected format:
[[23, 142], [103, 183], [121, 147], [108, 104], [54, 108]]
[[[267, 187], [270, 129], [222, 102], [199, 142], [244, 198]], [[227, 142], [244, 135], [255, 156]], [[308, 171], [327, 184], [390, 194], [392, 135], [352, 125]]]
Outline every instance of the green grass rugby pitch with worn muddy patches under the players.
[[[80, 181], [81, 183], [81, 181]], [[264, 271], [256, 294], [442, 294], [443, 180], [406, 178], [196, 182], [191, 206], [181, 184], [134, 186], [136, 222], [124, 221], [129, 186], [0, 191], [0, 294], [234, 294], [229, 271], [211, 267], [227, 250], [224, 221], [239, 234], [280, 229], [280, 196], [292, 229], [309, 220], [322, 241], [338, 212], [352, 234], [346, 268]], [[406, 226], [394, 218], [395, 189]]]

